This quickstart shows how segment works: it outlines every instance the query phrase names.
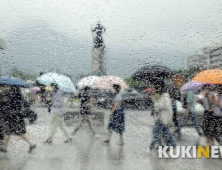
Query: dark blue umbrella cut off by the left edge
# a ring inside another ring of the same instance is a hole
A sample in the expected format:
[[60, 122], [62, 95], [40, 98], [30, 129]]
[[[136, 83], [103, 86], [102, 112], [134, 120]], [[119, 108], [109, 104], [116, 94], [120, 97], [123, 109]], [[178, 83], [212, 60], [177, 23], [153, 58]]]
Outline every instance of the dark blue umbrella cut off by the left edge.
[[11, 76], [0, 76], [0, 85], [29, 87], [22, 79]]

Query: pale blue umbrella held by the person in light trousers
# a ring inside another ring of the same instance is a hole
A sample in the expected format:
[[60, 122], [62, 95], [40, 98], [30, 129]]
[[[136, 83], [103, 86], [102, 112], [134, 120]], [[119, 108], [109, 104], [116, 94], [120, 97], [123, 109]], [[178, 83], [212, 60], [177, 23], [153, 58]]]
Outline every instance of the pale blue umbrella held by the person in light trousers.
[[53, 72], [45, 73], [42, 74], [40, 77], [38, 77], [37, 81], [45, 86], [50, 86], [52, 83], [56, 83], [58, 84], [59, 89], [65, 93], [76, 92], [72, 80], [68, 76], [62, 74], [53, 73]]

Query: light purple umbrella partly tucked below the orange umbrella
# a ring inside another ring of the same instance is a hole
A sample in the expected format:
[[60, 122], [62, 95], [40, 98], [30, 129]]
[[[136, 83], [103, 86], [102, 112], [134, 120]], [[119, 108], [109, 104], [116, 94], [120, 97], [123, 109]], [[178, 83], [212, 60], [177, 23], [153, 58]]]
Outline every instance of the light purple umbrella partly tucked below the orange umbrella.
[[180, 89], [180, 91], [183, 93], [188, 92], [188, 91], [197, 91], [197, 90], [200, 90], [201, 87], [203, 87], [205, 84], [206, 83], [192, 80], [184, 84], [183, 87]]

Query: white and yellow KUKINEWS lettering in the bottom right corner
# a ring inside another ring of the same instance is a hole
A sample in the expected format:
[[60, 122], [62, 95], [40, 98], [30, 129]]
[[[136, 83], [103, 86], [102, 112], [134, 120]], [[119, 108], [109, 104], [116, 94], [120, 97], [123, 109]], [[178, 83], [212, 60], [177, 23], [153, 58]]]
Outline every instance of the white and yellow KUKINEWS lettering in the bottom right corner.
[[222, 158], [222, 146], [159, 146], [159, 158]]

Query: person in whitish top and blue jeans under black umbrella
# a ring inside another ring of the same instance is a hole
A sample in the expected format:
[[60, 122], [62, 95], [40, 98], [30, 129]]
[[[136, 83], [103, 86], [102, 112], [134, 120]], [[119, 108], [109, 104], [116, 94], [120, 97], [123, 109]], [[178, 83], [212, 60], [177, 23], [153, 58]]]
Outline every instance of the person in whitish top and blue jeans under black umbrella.
[[152, 96], [154, 111], [158, 114], [156, 123], [153, 127], [153, 139], [147, 152], [156, 149], [164, 138], [166, 146], [176, 146], [173, 136], [169, 130], [169, 125], [173, 123], [173, 109], [170, 95], [164, 85], [155, 87], [155, 95]]

